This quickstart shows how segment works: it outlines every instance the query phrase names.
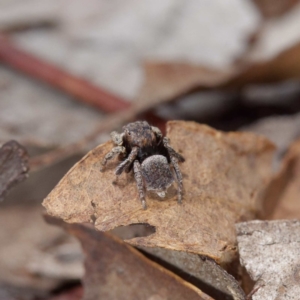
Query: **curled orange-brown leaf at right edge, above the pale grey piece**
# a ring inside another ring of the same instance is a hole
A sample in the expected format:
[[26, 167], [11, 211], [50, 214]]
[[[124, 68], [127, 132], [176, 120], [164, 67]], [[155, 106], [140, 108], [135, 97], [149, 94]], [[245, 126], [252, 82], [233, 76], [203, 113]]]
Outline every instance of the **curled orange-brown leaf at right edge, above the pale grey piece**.
[[265, 200], [268, 219], [300, 218], [300, 140], [290, 147], [280, 172], [270, 183]]

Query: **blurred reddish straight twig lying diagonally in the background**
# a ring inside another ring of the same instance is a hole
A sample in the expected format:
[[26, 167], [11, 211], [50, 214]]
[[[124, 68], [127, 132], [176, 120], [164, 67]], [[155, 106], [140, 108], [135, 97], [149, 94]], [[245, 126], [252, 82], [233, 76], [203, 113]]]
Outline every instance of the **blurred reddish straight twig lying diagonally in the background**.
[[0, 34], [0, 59], [5, 64], [63, 90], [104, 112], [112, 113], [130, 107], [129, 102], [18, 49], [3, 34]]

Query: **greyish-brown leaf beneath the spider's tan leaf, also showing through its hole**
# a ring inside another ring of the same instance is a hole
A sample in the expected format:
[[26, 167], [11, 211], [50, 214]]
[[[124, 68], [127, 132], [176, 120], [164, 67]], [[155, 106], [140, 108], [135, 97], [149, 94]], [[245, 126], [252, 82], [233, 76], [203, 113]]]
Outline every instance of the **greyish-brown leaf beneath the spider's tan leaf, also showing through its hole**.
[[[122, 240], [138, 236], [147, 236], [155, 232], [155, 228], [143, 224], [121, 226], [111, 233]], [[203, 255], [183, 251], [174, 251], [158, 247], [138, 247], [155, 262], [179, 275], [185, 281], [198, 287], [201, 291], [216, 300], [244, 300], [245, 293], [235, 277], [240, 277], [236, 269], [236, 261], [223, 265], [235, 275], [233, 277], [220, 267], [213, 259]]]

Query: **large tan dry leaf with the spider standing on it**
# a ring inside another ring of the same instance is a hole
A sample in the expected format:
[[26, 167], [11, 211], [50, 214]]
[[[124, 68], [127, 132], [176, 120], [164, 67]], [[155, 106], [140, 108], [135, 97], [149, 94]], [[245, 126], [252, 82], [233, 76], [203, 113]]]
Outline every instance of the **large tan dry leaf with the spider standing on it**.
[[90, 222], [108, 231], [146, 223], [156, 232], [128, 242], [207, 255], [218, 263], [236, 254], [234, 223], [258, 212], [271, 174], [273, 145], [250, 133], [222, 133], [193, 122], [169, 122], [172, 146], [182, 153], [185, 195], [177, 203], [171, 188], [167, 199], [147, 196], [143, 210], [133, 174], [114, 181], [117, 161], [100, 172], [106, 143], [88, 153], [44, 200], [47, 212], [67, 222]]

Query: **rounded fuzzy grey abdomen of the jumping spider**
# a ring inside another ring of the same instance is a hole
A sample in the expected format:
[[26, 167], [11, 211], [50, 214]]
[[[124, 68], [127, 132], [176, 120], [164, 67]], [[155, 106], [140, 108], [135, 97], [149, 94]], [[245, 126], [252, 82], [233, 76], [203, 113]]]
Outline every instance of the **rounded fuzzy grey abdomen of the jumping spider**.
[[165, 156], [149, 156], [143, 161], [141, 171], [148, 191], [166, 191], [174, 182], [173, 174]]

